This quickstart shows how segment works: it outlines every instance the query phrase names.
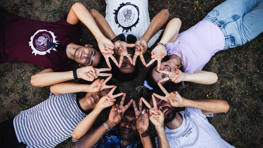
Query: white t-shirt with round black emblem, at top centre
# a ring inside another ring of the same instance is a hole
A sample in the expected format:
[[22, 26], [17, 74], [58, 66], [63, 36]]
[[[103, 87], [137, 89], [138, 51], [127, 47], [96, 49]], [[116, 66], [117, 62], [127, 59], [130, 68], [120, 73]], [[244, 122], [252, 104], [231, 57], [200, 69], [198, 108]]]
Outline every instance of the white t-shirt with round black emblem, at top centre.
[[[132, 34], [139, 40], [150, 25], [148, 0], [105, 0], [106, 16], [116, 36]], [[157, 32], [148, 42], [151, 47], [163, 30]]]

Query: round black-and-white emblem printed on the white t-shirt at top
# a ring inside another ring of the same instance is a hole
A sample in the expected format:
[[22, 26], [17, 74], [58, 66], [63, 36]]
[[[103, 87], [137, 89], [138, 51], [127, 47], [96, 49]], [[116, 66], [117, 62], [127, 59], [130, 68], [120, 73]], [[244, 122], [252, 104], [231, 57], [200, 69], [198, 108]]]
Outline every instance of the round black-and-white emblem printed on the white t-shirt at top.
[[139, 21], [139, 8], [131, 2], [122, 3], [114, 10], [115, 12], [115, 23], [119, 27], [123, 28], [123, 31], [132, 31], [132, 27], [135, 27]]

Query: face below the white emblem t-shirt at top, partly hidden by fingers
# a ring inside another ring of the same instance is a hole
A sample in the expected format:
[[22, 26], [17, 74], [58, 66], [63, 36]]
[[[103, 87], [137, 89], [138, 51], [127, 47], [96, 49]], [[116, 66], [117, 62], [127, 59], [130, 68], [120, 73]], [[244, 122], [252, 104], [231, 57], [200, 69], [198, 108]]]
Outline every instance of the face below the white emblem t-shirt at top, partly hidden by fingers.
[[[127, 51], [129, 55], [133, 58], [134, 50], [132, 50], [131, 48], [128, 48]], [[118, 63], [120, 62], [120, 56], [117, 56], [117, 61]], [[130, 60], [126, 56], [124, 56], [122, 66], [121, 68], [119, 68], [119, 71], [124, 74], [132, 73], [135, 71], [135, 66], [133, 66]]]

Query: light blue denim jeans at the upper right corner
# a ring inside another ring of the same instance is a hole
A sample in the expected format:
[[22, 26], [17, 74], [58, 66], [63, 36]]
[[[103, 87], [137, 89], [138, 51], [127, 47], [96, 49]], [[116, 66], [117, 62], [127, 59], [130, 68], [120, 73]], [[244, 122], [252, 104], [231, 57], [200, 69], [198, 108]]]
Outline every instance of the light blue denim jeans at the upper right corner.
[[263, 32], [263, 0], [226, 0], [204, 20], [223, 32], [224, 49], [243, 45]]

